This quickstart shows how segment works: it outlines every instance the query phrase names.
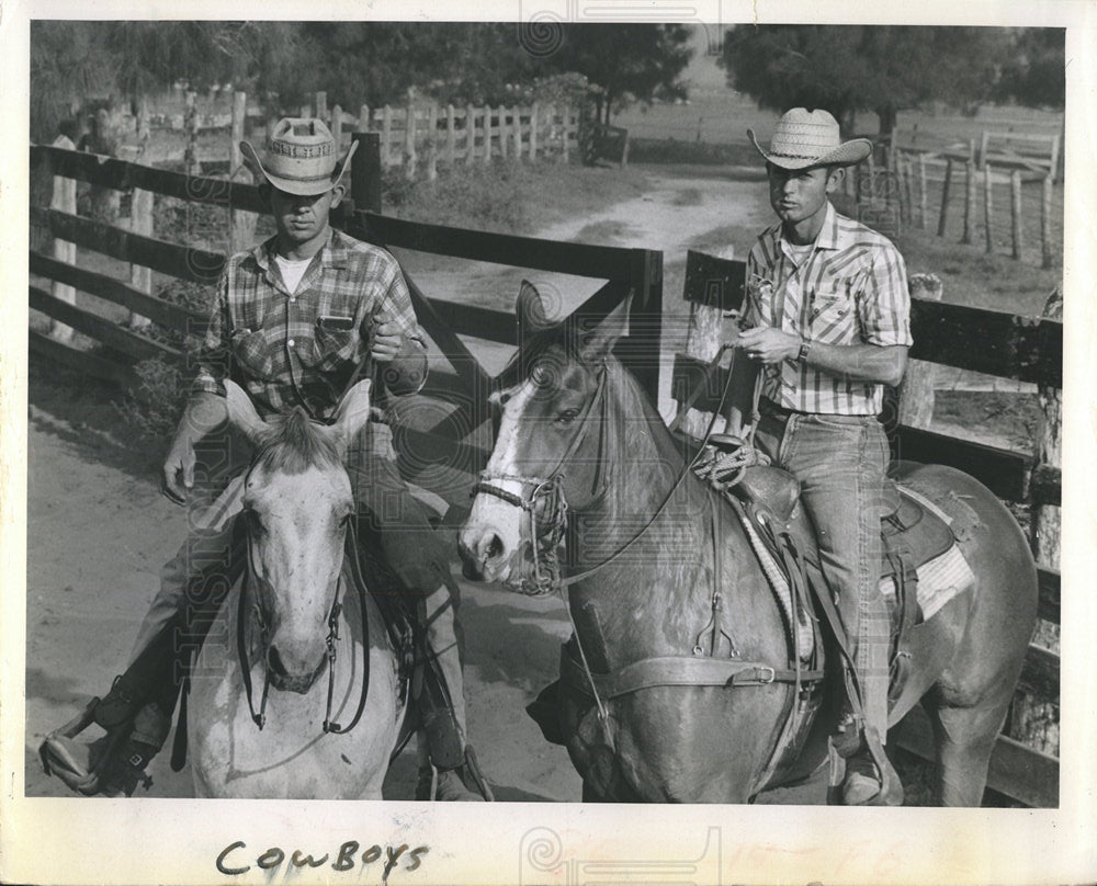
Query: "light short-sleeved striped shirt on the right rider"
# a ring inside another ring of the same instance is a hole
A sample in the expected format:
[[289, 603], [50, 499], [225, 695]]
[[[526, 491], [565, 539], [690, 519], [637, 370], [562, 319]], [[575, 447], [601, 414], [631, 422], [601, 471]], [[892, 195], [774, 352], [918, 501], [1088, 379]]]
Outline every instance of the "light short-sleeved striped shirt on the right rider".
[[[909, 345], [903, 257], [886, 237], [827, 204], [800, 266], [780, 224], [759, 236], [747, 258], [744, 319], [823, 344]], [[883, 385], [846, 380], [798, 360], [767, 365], [762, 395], [801, 412], [874, 416], [883, 407]]]

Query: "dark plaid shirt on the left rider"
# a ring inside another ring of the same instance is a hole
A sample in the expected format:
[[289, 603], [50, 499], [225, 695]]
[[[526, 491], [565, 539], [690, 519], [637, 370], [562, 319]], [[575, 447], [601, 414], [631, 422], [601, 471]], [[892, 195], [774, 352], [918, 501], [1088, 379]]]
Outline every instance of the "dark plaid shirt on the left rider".
[[328, 418], [367, 355], [373, 321], [395, 321], [422, 345], [388, 252], [330, 229], [294, 293], [274, 255], [272, 237], [226, 263], [192, 390], [224, 396], [231, 375], [264, 418], [298, 405]]

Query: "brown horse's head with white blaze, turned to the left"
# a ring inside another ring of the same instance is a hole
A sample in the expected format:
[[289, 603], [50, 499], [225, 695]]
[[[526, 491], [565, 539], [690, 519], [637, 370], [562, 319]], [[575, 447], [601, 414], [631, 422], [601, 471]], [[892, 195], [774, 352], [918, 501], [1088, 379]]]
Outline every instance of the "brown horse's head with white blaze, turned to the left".
[[495, 450], [459, 546], [466, 577], [544, 593], [566, 508], [597, 498], [609, 467], [607, 365], [627, 314], [622, 306], [600, 325], [575, 316], [553, 325], [523, 281], [517, 316], [519, 351], [491, 398], [501, 412]]

